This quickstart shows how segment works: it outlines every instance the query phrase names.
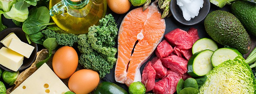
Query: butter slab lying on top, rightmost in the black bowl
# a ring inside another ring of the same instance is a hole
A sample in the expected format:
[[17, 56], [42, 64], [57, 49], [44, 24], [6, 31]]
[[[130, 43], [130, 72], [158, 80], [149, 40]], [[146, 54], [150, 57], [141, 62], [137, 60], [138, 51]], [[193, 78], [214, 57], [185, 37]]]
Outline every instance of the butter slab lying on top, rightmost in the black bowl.
[[29, 58], [35, 47], [17, 39], [11, 39], [9, 49]]

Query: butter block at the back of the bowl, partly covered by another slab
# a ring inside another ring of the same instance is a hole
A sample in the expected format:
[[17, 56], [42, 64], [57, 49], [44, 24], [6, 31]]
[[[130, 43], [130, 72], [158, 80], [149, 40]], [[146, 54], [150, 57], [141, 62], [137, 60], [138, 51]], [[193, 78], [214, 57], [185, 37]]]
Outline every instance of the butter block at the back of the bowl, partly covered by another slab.
[[14, 34], [13, 32], [8, 34], [3, 40], [1, 40], [0, 42], [7, 48], [9, 48], [9, 44], [11, 42], [11, 39], [17, 39], [20, 40], [16, 34]]

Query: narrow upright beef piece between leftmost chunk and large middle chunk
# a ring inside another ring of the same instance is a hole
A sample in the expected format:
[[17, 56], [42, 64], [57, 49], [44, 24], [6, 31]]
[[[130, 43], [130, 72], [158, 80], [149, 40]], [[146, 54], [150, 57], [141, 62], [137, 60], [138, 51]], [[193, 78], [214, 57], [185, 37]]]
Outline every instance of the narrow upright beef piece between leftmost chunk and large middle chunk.
[[152, 67], [156, 70], [155, 79], [165, 77], [167, 73], [167, 68], [162, 65], [161, 60], [158, 57], [154, 57], [151, 62], [152, 62]]

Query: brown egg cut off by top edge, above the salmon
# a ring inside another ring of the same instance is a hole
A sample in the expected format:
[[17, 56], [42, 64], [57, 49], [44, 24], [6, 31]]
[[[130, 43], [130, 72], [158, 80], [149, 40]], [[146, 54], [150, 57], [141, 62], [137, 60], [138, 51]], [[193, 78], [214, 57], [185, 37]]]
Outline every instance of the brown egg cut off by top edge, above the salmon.
[[126, 13], [131, 8], [129, 0], [107, 0], [108, 7], [117, 14]]

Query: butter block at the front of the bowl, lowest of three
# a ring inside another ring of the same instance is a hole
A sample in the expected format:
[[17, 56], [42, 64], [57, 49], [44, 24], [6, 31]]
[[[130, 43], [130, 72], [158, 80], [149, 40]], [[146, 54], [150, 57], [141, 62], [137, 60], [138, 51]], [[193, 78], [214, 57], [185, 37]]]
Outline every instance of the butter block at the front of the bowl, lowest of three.
[[2, 47], [0, 49], [0, 64], [9, 68], [10, 70], [17, 71], [23, 64], [24, 56], [20, 55], [13, 50]]

